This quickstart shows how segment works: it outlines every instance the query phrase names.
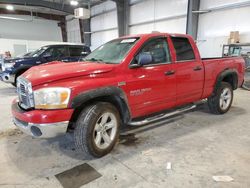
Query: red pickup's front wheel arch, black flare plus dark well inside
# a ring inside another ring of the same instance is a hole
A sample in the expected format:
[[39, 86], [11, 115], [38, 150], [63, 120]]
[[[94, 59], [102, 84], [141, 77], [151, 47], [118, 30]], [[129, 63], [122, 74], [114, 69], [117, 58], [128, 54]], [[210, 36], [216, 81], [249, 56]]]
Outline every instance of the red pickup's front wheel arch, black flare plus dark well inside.
[[76, 122], [82, 110], [96, 102], [109, 102], [113, 104], [119, 111], [123, 124], [130, 120], [130, 108], [127, 102], [127, 97], [123, 90], [119, 87], [104, 87], [93, 89], [87, 92], [82, 92], [73, 98], [71, 108], [74, 109], [70, 122]]

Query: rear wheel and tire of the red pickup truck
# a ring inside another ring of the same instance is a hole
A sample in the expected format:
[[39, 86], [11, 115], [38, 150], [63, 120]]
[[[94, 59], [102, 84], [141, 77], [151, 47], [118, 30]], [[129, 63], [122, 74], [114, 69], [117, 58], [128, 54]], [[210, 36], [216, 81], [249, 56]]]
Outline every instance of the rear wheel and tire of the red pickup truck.
[[208, 106], [213, 114], [226, 113], [233, 102], [233, 89], [227, 82], [221, 82], [215, 94], [208, 98]]

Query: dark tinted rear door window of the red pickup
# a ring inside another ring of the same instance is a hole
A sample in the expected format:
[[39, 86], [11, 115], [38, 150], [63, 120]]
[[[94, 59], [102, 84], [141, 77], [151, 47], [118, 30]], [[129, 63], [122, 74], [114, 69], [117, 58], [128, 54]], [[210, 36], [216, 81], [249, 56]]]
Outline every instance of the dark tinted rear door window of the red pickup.
[[171, 37], [171, 39], [174, 44], [177, 61], [189, 61], [195, 59], [194, 51], [188, 38]]

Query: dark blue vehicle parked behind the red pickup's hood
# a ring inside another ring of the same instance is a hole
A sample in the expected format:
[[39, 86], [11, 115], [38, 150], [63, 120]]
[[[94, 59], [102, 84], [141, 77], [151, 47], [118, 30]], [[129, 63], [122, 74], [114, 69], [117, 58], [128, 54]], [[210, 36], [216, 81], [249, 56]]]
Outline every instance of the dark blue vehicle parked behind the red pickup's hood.
[[76, 62], [90, 53], [90, 48], [84, 45], [48, 45], [25, 54], [22, 57], [5, 59], [2, 63], [0, 79], [16, 85], [17, 77], [29, 68], [51, 61]]

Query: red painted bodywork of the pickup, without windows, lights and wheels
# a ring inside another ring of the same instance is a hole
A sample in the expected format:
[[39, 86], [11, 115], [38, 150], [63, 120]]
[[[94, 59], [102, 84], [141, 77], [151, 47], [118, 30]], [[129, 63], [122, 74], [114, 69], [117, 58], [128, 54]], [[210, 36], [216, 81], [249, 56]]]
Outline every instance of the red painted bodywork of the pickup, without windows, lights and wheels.
[[[189, 39], [195, 53], [195, 60], [176, 62], [175, 49], [170, 39], [172, 35]], [[32, 83], [33, 90], [54, 86], [69, 87], [72, 91], [71, 100], [79, 93], [90, 89], [106, 86], [118, 87], [119, 82], [126, 82], [126, 85], [120, 87], [127, 96], [132, 118], [209, 97], [217, 76], [227, 68], [234, 69], [238, 73], [238, 86], [243, 82], [244, 60], [242, 58], [202, 60], [189, 35], [152, 33], [133, 36], [140, 37], [140, 40], [120, 64], [53, 63], [33, 67], [23, 76]], [[156, 36], [167, 37], [172, 63], [130, 69], [129, 64], [140, 47], [145, 41]], [[201, 67], [200, 71], [193, 70], [197, 66]], [[171, 70], [174, 70], [175, 74], [165, 76], [164, 73]], [[144, 93], [133, 95], [132, 93], [136, 90], [144, 91]], [[34, 123], [66, 121], [70, 119], [72, 112], [72, 109], [33, 110], [25, 113], [12, 110], [15, 117]], [[43, 118], [43, 115], [46, 118]]]

